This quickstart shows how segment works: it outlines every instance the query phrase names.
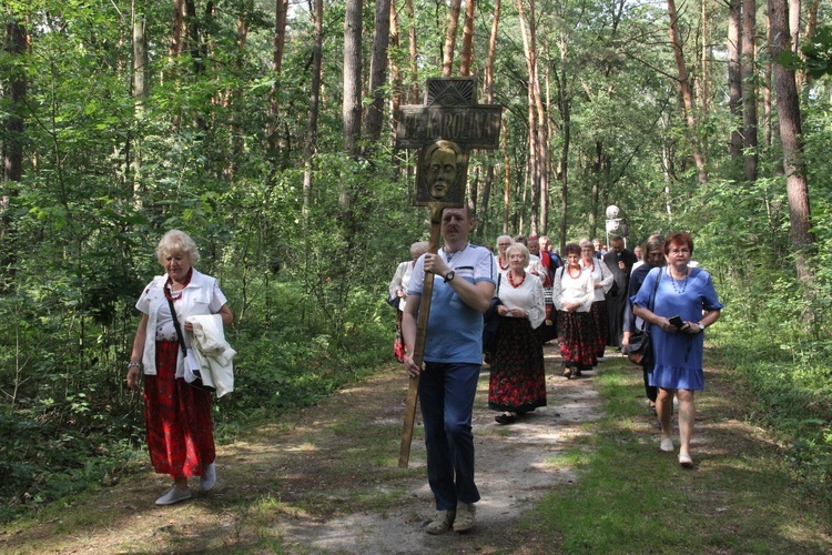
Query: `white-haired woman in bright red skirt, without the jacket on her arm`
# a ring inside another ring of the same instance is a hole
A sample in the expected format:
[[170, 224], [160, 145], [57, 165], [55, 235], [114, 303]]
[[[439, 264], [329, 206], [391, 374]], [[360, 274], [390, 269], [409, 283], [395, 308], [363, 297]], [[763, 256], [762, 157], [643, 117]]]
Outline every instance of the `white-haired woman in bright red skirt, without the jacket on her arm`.
[[185, 322], [187, 316], [220, 314], [225, 326], [234, 316], [216, 280], [193, 269], [200, 252], [187, 234], [179, 230], [165, 233], [156, 258], [166, 273], [153, 279], [135, 303], [142, 320], [128, 364], [128, 387], [139, 391], [143, 366], [150, 460], [158, 473], [170, 474], [173, 480], [156, 505], [172, 505], [191, 497], [189, 476], [201, 476], [203, 490], [211, 490], [216, 481], [211, 393], [189, 385], [183, 377], [177, 323], [182, 323], [180, 329], [192, 331], [192, 324]]

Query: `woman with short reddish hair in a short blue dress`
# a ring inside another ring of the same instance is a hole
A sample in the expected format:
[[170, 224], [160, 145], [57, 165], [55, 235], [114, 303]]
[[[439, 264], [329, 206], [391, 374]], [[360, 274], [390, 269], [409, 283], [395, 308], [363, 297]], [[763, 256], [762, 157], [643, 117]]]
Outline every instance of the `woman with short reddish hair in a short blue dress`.
[[[693, 394], [704, 389], [702, 353], [704, 330], [714, 323], [724, 306], [717, 297], [708, 272], [690, 268], [693, 240], [676, 233], [664, 241], [667, 268], [653, 268], [638, 294], [632, 297], [633, 312], [650, 327], [653, 367], [650, 385], [659, 389], [656, 407], [661, 423], [661, 451], [673, 452], [670, 418], [673, 395], [679, 400], [679, 464], [693, 466], [690, 438], [693, 434], [696, 406]], [[677, 321], [676, 324], [672, 321]]]

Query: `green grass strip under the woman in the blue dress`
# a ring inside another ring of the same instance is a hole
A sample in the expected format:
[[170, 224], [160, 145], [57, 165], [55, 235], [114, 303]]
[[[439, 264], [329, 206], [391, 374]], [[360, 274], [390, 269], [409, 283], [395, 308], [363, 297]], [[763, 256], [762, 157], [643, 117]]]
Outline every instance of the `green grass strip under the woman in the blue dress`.
[[829, 506], [811, 496], [764, 434], [743, 422], [728, 371], [697, 395], [693, 456], [683, 471], [658, 451], [639, 372], [623, 360], [597, 379], [606, 416], [590, 450], [572, 450], [577, 485], [559, 485], [521, 529], [562, 553], [823, 553]]

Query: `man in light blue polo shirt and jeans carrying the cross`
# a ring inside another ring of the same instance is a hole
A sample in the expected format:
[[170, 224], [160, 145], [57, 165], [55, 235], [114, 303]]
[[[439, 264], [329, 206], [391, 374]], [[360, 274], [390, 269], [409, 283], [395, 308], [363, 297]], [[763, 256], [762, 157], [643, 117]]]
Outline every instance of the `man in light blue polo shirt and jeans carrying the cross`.
[[[436, 278], [424, 346], [424, 369], [405, 359], [405, 370], [420, 376], [418, 394], [425, 426], [427, 476], [436, 498], [428, 534], [474, 526], [479, 491], [474, 483], [471, 412], [483, 361], [483, 314], [497, 284], [494, 256], [468, 243], [474, 229], [469, 208], [442, 213], [445, 245], [424, 254], [410, 276], [402, 319], [407, 352], [414, 352], [419, 299], [426, 273]], [[439, 280], [440, 278], [440, 280]], [[417, 299], [419, 297], [419, 299]]]

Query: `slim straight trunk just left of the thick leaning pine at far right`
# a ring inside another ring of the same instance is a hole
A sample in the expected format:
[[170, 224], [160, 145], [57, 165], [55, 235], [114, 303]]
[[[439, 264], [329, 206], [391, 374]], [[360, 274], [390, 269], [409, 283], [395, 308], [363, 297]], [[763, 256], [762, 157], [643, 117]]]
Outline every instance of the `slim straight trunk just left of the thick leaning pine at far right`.
[[757, 1], [742, 0], [742, 134], [745, 180], [757, 180]]

